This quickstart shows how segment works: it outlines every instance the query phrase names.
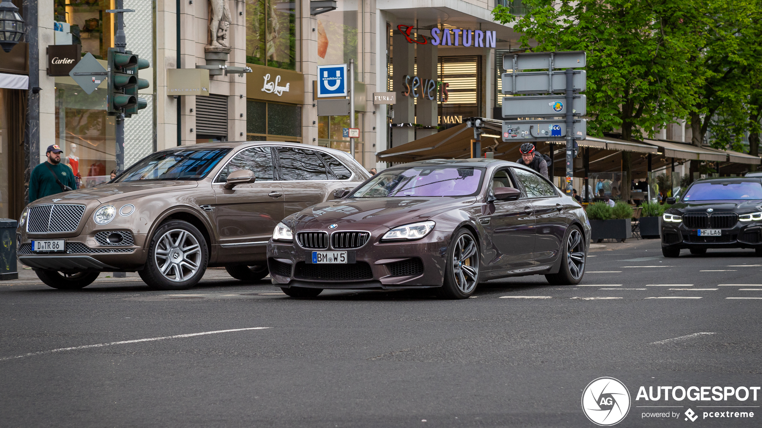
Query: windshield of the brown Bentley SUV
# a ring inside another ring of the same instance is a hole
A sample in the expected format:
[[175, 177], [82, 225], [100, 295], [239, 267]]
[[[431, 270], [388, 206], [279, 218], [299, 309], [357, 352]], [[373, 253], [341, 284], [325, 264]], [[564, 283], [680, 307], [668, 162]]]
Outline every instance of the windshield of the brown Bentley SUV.
[[200, 180], [230, 151], [229, 148], [160, 151], [130, 166], [114, 182], [142, 180]]

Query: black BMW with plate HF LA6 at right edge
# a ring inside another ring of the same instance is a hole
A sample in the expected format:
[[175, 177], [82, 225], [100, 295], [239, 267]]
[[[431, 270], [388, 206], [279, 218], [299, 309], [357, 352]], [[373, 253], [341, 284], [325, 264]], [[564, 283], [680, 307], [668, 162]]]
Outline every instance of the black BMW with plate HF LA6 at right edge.
[[703, 254], [710, 248], [753, 248], [762, 255], [762, 179], [725, 177], [693, 182], [684, 195], [667, 199], [661, 252]]

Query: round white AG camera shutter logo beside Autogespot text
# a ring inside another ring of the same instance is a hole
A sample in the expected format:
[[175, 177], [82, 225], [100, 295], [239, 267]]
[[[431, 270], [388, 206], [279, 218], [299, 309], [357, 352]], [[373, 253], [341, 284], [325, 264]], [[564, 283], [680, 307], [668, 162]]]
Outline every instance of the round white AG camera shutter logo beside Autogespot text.
[[611, 426], [620, 423], [627, 416], [629, 407], [629, 391], [617, 379], [595, 379], [582, 391], [582, 411], [596, 425]]

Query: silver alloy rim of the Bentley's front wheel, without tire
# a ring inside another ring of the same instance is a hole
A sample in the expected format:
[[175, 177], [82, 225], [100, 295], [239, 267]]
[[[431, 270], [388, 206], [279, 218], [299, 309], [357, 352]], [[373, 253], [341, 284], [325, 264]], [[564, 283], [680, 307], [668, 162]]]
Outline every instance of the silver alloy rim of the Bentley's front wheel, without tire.
[[158, 271], [169, 281], [186, 281], [201, 265], [201, 247], [187, 230], [169, 230], [156, 242], [154, 253]]

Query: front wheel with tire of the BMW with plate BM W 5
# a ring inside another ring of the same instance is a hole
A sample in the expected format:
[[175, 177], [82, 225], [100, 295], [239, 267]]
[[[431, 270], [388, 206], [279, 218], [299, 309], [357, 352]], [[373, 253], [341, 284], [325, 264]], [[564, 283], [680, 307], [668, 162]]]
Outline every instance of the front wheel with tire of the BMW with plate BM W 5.
[[467, 299], [479, 284], [479, 245], [467, 229], [456, 230], [447, 250], [444, 284], [440, 296], [446, 299]]

